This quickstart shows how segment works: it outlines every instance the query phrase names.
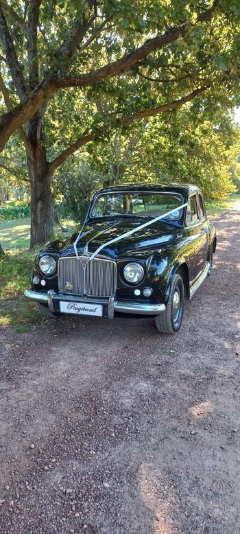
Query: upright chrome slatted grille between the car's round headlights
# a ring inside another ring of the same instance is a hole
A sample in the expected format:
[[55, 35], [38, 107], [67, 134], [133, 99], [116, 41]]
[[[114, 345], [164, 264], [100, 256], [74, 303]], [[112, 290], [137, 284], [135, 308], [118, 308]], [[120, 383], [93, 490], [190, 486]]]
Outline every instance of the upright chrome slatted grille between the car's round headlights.
[[[112, 297], [117, 286], [117, 265], [109, 259], [95, 257], [60, 258], [58, 289], [88, 297]], [[68, 289], [69, 288], [69, 289]]]

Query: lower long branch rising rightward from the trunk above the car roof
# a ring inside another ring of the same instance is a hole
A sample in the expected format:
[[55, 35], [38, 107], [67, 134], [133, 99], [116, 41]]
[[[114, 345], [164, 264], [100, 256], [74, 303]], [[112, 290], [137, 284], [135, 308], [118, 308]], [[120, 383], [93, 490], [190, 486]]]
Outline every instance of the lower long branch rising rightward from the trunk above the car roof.
[[[146, 117], [156, 117], [159, 113], [164, 113], [165, 111], [172, 111], [173, 109], [180, 108], [183, 106], [183, 104], [186, 104], [187, 102], [191, 102], [195, 97], [199, 96], [200, 94], [204, 93], [208, 89], [207, 86], [202, 86], [200, 89], [195, 89], [195, 91], [192, 91], [189, 95], [180, 98], [179, 100], [175, 100], [174, 102], [170, 102], [169, 104], [164, 104], [163, 106], [158, 106], [157, 108], [151, 108], [143, 111], [139, 111], [137, 113], [133, 113], [130, 117], [126, 117], [125, 119], [121, 119], [121, 126], [128, 126], [129, 124], [132, 124], [132, 122], [136, 121], [136, 119], [144, 119]], [[98, 137], [102, 137], [104, 135], [104, 128], [101, 128], [97, 132]], [[78, 139], [75, 143], [73, 143], [71, 146], [69, 146], [66, 150], [62, 152], [56, 159], [51, 161], [49, 163], [49, 176], [53, 175], [53, 172], [56, 171], [56, 169], [64, 163], [64, 161], [67, 160], [71, 154], [73, 154], [76, 150], [79, 150], [82, 148], [82, 146], [86, 145], [87, 143], [91, 143], [96, 137], [96, 133], [88, 133], [88, 130], [82, 135], [81, 139]]]

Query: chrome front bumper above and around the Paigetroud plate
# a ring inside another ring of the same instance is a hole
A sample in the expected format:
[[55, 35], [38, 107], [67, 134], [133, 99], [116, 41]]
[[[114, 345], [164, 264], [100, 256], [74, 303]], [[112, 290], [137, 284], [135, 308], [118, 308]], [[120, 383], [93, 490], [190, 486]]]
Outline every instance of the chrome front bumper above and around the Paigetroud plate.
[[[134, 303], [132, 301], [115, 301], [114, 297], [110, 299], [84, 299], [84, 297], [76, 297], [71, 294], [59, 294], [54, 290], [49, 290], [47, 293], [41, 293], [26, 289], [25, 297], [30, 301], [39, 302], [40, 304], [47, 304], [51, 312], [58, 311], [58, 305], [60, 301], [75, 302], [75, 303], [94, 303], [104, 304], [108, 307], [107, 316], [109, 319], [114, 318], [115, 312], [125, 314], [137, 314], [137, 315], [159, 315], [165, 310], [165, 304], [148, 304], [148, 303]], [[57, 309], [56, 309], [57, 303]]]

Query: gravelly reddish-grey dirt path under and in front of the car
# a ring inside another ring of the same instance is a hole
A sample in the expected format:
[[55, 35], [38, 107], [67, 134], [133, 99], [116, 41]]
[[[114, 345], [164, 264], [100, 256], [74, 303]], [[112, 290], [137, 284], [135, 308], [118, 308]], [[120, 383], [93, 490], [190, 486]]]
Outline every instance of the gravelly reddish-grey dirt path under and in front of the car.
[[176, 336], [1, 329], [1, 534], [239, 534], [240, 202]]

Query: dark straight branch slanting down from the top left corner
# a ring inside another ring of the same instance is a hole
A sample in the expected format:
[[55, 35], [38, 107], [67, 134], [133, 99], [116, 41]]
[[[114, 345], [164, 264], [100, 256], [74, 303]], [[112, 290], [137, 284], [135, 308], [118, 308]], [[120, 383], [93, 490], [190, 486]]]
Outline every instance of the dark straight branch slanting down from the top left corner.
[[5, 20], [5, 15], [3, 13], [3, 8], [0, 2], [0, 35], [1, 42], [3, 44], [3, 50], [8, 61], [8, 67], [12, 74], [12, 80], [16, 87], [16, 91], [19, 95], [20, 100], [23, 100], [27, 97], [28, 91], [23, 77], [23, 72], [19, 65], [18, 58], [16, 57], [16, 50], [12, 43], [12, 38], [8, 30], [8, 25]]

